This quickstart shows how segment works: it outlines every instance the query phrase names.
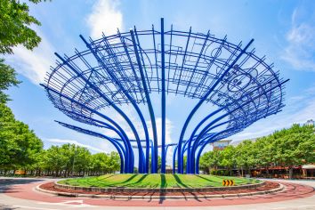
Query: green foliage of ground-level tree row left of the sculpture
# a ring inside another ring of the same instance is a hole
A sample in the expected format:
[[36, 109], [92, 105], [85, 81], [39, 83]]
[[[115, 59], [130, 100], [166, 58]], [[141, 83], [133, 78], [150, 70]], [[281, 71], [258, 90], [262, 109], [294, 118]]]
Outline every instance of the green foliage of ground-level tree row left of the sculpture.
[[43, 142], [15, 119], [12, 110], [0, 103], [0, 171], [22, 169], [39, 174], [69, 176], [107, 174], [119, 171], [117, 152], [92, 155], [75, 144], [43, 149]]

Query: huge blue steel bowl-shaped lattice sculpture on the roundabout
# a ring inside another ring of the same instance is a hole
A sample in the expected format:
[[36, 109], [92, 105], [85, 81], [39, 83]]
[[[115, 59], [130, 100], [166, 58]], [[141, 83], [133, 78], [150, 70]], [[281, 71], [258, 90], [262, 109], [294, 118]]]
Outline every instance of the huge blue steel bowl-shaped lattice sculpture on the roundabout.
[[[241, 132], [255, 121], [277, 114], [283, 107], [283, 88], [287, 80], [272, 70], [273, 65], [249, 50], [253, 39], [245, 46], [231, 44], [227, 37], [216, 38], [191, 30], [179, 31], [173, 26], [165, 30], [161, 19], [160, 30], [152, 25], [149, 30], [129, 32], [86, 40], [85, 51], [73, 56], [61, 56], [60, 61], [47, 74], [43, 84], [53, 105], [72, 119], [115, 136], [58, 122], [79, 133], [109, 141], [121, 158], [121, 173], [133, 173], [134, 154], [137, 149], [139, 173], [158, 173], [158, 148], [161, 148], [161, 173], [166, 173], [166, 152], [174, 146], [173, 172], [198, 174], [198, 162], [209, 142]], [[161, 145], [151, 93], [161, 97]], [[189, 112], [177, 143], [166, 145], [166, 94], [180, 94], [198, 100]], [[217, 107], [206, 113], [198, 125], [190, 120], [204, 103]], [[141, 120], [141, 131], [122, 109], [130, 104]], [[143, 109], [146, 104], [150, 117], [152, 139]], [[107, 115], [114, 109], [123, 117], [128, 133]], [[192, 132], [188, 133], [188, 127]], [[143, 132], [143, 136], [139, 133]], [[134, 145], [135, 143], [135, 145]], [[144, 143], [144, 146], [142, 144]], [[145, 151], [143, 151], [143, 149]], [[187, 166], [183, 157], [187, 153]], [[151, 163], [149, 165], [149, 157]]]

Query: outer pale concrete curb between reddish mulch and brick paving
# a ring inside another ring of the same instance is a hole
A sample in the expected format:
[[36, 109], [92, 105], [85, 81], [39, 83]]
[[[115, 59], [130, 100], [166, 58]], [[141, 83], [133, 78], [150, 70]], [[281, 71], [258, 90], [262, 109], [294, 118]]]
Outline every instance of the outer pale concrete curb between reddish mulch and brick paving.
[[265, 195], [265, 194], [275, 193], [275, 192], [279, 192], [279, 191], [284, 190], [284, 189], [285, 189], [284, 185], [279, 183], [279, 188], [276, 188], [276, 189], [256, 191], [256, 192], [247, 192], [247, 193], [237, 193], [237, 194], [196, 195], [196, 196], [115, 196], [115, 195], [95, 195], [95, 194], [58, 192], [58, 191], [41, 189], [40, 185], [36, 186], [37, 191], [41, 191], [44, 193], [50, 193], [50, 194], [56, 195], [56, 196], [76, 197], [76, 198], [103, 198], [103, 199], [114, 199], [114, 200], [240, 198], [240, 197]]

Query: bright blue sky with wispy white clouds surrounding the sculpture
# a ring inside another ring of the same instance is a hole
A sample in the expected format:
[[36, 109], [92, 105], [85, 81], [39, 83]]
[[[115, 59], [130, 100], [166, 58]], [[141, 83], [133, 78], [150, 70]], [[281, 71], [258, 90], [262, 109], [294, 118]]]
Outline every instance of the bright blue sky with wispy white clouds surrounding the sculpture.
[[[147, 29], [152, 23], [158, 26], [161, 17], [165, 18], [166, 28], [173, 24], [177, 29], [188, 30], [191, 26], [203, 33], [210, 29], [216, 37], [228, 35], [232, 43], [254, 38], [256, 53], [266, 55], [267, 62], [274, 62], [282, 77], [290, 78], [283, 111], [230, 139], [254, 138], [315, 119], [315, 1], [52, 0], [31, 5], [30, 12], [42, 22], [35, 29], [43, 41], [33, 52], [18, 46], [14, 55], [6, 56], [23, 82], [8, 92], [13, 100], [9, 106], [44, 141], [45, 148], [74, 142], [92, 152], [113, 149], [107, 142], [53, 122], [58, 119], [78, 125], [53, 108], [38, 85], [55, 63], [53, 52], [70, 55], [76, 47], [85, 49], [79, 34], [96, 38], [102, 31], [110, 35], [117, 28], [125, 31], [133, 25]], [[174, 99], [167, 104], [167, 141], [175, 142], [182, 127], [182, 109]], [[157, 115], [160, 117], [159, 112]]]

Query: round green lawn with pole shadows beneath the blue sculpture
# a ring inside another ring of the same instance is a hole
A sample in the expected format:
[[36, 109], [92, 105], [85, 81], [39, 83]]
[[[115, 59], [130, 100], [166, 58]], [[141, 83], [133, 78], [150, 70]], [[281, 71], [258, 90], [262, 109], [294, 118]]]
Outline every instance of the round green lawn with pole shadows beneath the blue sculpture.
[[235, 185], [259, 182], [252, 179], [205, 174], [106, 174], [98, 177], [67, 179], [59, 183], [105, 188], [198, 188], [221, 187], [223, 179], [232, 179]]

